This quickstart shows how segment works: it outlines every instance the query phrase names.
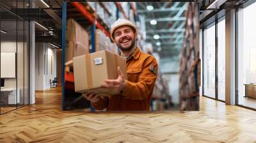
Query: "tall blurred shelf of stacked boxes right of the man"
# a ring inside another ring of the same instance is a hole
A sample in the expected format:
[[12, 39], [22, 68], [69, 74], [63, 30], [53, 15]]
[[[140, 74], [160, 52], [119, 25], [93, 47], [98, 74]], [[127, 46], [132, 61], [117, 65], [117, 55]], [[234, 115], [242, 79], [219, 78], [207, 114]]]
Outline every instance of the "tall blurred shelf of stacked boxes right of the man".
[[[198, 89], [200, 85], [200, 61], [198, 46], [198, 22], [195, 15], [197, 12], [196, 3], [188, 3], [188, 10], [185, 13], [186, 32], [184, 45], [180, 50], [180, 102], [184, 110], [198, 110]], [[186, 102], [182, 102], [186, 101]]]

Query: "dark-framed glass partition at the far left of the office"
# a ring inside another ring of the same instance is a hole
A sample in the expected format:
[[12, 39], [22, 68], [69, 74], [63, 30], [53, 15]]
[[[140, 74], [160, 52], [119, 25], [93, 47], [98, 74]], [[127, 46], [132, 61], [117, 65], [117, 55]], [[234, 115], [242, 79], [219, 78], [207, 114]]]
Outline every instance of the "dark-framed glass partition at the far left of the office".
[[0, 114], [29, 103], [29, 22], [8, 10], [27, 8], [28, 2], [1, 3], [8, 8], [0, 8]]

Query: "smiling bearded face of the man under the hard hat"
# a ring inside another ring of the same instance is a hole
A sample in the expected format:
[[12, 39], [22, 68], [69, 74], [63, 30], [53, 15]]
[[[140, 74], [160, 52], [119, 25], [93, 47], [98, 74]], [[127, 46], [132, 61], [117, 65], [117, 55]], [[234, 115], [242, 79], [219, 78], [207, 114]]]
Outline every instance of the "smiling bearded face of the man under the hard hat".
[[130, 26], [121, 26], [115, 29], [114, 37], [116, 45], [122, 51], [129, 51], [134, 47], [136, 34]]

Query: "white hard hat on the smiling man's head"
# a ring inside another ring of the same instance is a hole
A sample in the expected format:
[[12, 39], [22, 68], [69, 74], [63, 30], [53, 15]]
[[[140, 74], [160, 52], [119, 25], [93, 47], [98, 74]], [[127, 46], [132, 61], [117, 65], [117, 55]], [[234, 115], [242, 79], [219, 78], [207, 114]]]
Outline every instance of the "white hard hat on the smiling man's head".
[[113, 41], [115, 41], [115, 38], [113, 37], [113, 33], [114, 33], [115, 29], [120, 26], [131, 26], [132, 28], [134, 28], [135, 33], [137, 33], [136, 26], [131, 21], [129, 21], [127, 19], [118, 19], [111, 26], [110, 37]]

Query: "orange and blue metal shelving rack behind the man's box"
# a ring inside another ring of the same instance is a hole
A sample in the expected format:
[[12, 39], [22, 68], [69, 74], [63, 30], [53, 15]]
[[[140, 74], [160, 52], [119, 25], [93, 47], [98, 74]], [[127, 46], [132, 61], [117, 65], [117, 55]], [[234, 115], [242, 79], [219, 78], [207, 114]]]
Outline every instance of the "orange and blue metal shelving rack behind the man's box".
[[[102, 4], [102, 2], [99, 2]], [[115, 2], [116, 5], [116, 19], [119, 17], [119, 13], [121, 12], [125, 18], [129, 19], [127, 15], [125, 15], [125, 12], [120, 5], [119, 2]], [[136, 10], [134, 8], [133, 3], [128, 3], [129, 6], [131, 6], [132, 11], [136, 13]], [[70, 14], [72, 13], [72, 14]], [[80, 3], [80, 2], [63, 2], [62, 4], [62, 110], [68, 110], [67, 105], [65, 103], [65, 99], [67, 96], [65, 96], [65, 87], [68, 87], [69, 89], [74, 89], [74, 75], [72, 72], [66, 72], [65, 71], [65, 50], [66, 50], [66, 28], [67, 28], [67, 18], [72, 18], [76, 20], [81, 26], [84, 27], [84, 29], [87, 28], [87, 26], [92, 26], [92, 36], [91, 36], [91, 43], [92, 43], [92, 50], [91, 52], [95, 52], [95, 29], [100, 29], [106, 36], [110, 38], [110, 28], [103, 22], [102, 19], [100, 19], [99, 15], [97, 15], [96, 11], [93, 10], [93, 8], [88, 4], [87, 2]], [[67, 84], [67, 83], [69, 84]], [[91, 110], [94, 109], [91, 107]]]

